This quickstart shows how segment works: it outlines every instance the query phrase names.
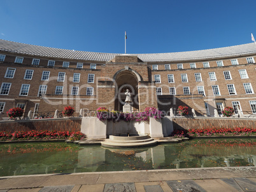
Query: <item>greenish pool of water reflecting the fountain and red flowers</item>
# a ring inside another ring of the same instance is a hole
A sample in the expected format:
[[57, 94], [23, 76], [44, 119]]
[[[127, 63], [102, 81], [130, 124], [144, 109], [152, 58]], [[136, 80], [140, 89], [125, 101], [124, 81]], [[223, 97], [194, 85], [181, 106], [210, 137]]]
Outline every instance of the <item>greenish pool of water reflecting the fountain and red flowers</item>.
[[110, 149], [64, 142], [0, 144], [0, 176], [256, 166], [256, 139], [193, 139]]

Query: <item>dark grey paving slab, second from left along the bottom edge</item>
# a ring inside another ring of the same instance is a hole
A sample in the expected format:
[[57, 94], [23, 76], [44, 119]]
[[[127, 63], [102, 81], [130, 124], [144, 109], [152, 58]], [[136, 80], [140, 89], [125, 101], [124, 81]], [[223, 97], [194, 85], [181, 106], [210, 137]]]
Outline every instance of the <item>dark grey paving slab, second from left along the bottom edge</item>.
[[105, 184], [103, 192], [136, 192], [134, 182]]

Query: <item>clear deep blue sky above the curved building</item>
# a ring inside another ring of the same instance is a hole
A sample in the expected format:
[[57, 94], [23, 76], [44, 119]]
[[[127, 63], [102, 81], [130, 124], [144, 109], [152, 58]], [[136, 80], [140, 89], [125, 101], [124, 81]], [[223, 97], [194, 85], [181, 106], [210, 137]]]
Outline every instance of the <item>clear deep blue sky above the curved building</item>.
[[69, 50], [193, 51], [252, 43], [256, 1], [1, 0], [0, 38]]

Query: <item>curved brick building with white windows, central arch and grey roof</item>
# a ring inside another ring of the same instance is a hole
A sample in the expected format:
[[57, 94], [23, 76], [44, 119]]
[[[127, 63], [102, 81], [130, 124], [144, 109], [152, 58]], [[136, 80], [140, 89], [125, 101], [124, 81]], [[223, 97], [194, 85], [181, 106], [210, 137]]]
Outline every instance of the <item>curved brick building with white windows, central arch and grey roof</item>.
[[177, 53], [115, 54], [63, 50], [0, 39], [0, 111], [25, 113], [64, 106], [122, 111], [174, 111], [180, 105], [213, 116], [225, 107], [256, 114], [254, 43]]

